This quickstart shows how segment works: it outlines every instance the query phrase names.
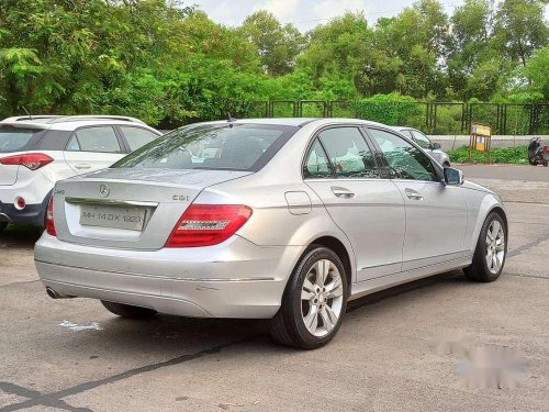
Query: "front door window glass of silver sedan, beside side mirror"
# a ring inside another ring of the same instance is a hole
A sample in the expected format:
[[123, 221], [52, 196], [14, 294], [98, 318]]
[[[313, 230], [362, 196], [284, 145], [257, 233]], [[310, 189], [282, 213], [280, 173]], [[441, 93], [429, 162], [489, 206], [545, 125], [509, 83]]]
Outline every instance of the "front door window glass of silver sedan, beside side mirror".
[[397, 179], [438, 181], [435, 166], [421, 149], [404, 138], [381, 130], [370, 129]]

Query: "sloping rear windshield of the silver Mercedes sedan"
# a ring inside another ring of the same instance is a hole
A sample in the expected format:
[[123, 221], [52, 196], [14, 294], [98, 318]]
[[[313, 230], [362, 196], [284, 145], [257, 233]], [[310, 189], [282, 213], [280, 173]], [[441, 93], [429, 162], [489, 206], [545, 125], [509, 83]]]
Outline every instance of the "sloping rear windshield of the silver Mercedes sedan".
[[256, 171], [295, 130], [270, 124], [183, 127], [131, 153], [112, 167]]

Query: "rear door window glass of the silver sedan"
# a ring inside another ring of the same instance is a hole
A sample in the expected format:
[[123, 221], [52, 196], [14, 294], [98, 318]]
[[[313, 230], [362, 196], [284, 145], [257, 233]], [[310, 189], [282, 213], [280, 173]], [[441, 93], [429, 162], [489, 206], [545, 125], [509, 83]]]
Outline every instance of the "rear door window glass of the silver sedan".
[[379, 177], [373, 155], [357, 127], [328, 129], [318, 138], [337, 177]]

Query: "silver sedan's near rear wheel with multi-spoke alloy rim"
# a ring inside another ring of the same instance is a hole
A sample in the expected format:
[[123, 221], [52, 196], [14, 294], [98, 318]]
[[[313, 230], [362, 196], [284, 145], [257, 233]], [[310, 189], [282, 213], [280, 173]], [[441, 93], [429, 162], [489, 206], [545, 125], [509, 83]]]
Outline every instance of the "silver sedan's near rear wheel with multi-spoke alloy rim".
[[288, 281], [280, 310], [271, 321], [274, 341], [315, 349], [334, 338], [347, 308], [347, 277], [339, 257], [312, 246]]

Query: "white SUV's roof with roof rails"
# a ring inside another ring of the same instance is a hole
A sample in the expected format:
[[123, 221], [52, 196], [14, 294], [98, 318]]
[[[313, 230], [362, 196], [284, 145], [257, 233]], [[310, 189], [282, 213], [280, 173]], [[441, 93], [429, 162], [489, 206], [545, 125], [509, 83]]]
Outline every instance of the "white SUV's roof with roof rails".
[[135, 118], [105, 114], [12, 116], [2, 120], [0, 122], [0, 125], [2, 124], [12, 125], [15, 127], [52, 129], [64, 131], [72, 131], [81, 126], [101, 124], [138, 125], [145, 126], [147, 129], [153, 129]]

